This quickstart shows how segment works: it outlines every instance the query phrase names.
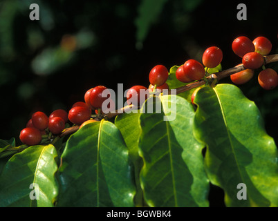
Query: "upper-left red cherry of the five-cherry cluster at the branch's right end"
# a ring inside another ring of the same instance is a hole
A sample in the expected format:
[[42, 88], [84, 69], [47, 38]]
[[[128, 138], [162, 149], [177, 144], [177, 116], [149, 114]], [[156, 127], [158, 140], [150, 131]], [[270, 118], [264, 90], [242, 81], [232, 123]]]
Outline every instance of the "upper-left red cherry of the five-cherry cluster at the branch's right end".
[[248, 37], [241, 36], [232, 41], [232, 50], [237, 56], [243, 57], [248, 52], [254, 52], [255, 48], [254, 44]]

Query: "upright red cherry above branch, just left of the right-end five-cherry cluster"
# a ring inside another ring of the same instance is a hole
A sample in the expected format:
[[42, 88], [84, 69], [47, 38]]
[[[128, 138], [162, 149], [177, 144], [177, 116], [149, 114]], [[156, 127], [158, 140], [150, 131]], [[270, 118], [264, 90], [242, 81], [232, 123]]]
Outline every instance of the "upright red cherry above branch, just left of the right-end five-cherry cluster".
[[220, 48], [212, 46], [203, 52], [203, 65], [207, 68], [215, 68], [223, 59], [223, 52]]

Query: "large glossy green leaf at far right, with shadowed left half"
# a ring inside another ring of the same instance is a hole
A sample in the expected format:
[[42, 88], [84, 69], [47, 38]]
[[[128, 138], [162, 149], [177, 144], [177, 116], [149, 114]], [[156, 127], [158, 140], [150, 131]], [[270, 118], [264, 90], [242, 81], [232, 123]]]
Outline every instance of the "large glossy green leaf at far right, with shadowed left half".
[[[207, 146], [205, 169], [225, 191], [226, 206], [278, 206], [277, 147], [254, 102], [230, 84], [205, 86], [194, 102], [194, 134]], [[241, 183], [246, 200], [237, 198]]]

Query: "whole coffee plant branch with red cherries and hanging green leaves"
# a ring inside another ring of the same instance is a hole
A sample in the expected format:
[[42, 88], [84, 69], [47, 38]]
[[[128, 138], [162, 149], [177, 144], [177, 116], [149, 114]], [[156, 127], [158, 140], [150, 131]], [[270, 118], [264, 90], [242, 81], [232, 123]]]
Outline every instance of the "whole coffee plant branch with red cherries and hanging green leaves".
[[131, 87], [122, 107], [93, 86], [68, 111], [33, 113], [22, 144], [0, 140], [0, 206], [205, 207], [211, 185], [225, 206], [278, 206], [277, 146], [234, 85], [257, 77], [275, 90], [271, 47], [238, 37], [233, 68], [222, 70], [225, 55], [212, 46], [202, 61], [152, 68], [150, 85]]

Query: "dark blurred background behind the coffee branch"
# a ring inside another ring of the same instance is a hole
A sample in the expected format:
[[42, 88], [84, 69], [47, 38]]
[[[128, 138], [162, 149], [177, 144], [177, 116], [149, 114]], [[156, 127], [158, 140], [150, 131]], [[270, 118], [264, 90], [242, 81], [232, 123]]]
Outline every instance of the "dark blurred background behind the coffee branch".
[[[39, 5], [39, 21], [29, 19], [31, 3]], [[209, 46], [223, 51], [223, 69], [236, 66], [241, 59], [231, 46], [240, 35], [268, 37], [271, 53], [277, 53], [276, 1], [245, 3], [247, 21], [237, 20], [239, 3], [244, 2], [1, 1], [1, 139], [15, 137], [20, 144], [19, 133], [35, 111], [68, 111], [98, 85], [115, 91], [118, 83], [124, 90], [149, 86], [156, 64], [171, 68], [187, 59], [201, 61]], [[278, 71], [277, 63], [269, 67]], [[257, 104], [277, 143], [278, 89], [260, 88], [257, 74], [239, 88]], [[210, 201], [219, 206], [218, 198]]]

